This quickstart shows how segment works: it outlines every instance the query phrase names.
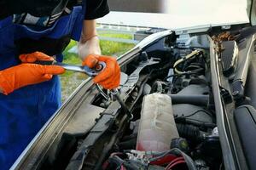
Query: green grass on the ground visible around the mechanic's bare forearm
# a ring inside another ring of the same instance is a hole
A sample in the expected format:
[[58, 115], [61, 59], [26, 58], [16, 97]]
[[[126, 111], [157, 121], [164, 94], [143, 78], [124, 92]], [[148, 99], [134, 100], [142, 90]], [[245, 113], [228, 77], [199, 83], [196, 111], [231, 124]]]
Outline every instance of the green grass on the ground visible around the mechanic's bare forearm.
[[[100, 36], [103, 37], [118, 37], [131, 39], [131, 35], [126, 34], [109, 34], [107, 31], [100, 32]], [[81, 65], [81, 60], [77, 54], [71, 54], [67, 51], [70, 48], [73, 48], [77, 42], [71, 41], [65, 51], [63, 52], [64, 59], [63, 62], [73, 65]], [[101, 41], [100, 47], [102, 49], [103, 55], [110, 56], [119, 56], [124, 54], [126, 51], [134, 47], [134, 44], [130, 43], [121, 43], [121, 42], [110, 42], [110, 41]], [[61, 85], [62, 85], [62, 101], [67, 99], [67, 97], [72, 94], [72, 92], [83, 82], [87, 77], [84, 74], [66, 71], [65, 74], [61, 75]]]

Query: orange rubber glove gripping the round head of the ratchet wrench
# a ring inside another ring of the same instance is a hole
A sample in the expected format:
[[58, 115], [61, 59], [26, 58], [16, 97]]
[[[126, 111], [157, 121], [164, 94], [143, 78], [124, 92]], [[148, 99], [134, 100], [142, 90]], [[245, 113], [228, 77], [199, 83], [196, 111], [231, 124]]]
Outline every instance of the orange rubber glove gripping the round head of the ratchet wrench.
[[113, 57], [90, 54], [85, 59], [82, 65], [87, 65], [90, 68], [96, 66], [99, 62], [105, 62], [106, 68], [98, 74], [93, 81], [99, 83], [103, 88], [113, 89], [119, 87], [120, 84], [120, 68], [117, 60]]

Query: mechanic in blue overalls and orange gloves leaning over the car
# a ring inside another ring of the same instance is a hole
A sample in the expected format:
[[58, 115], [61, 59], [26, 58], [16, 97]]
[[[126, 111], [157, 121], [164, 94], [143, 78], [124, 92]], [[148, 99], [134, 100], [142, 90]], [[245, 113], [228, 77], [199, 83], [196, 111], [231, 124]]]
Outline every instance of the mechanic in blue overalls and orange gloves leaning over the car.
[[82, 65], [106, 68], [94, 78], [103, 88], [119, 86], [116, 59], [102, 56], [96, 18], [108, 14], [107, 0], [0, 0], [0, 167], [9, 169], [61, 105], [64, 69], [36, 65], [62, 61], [70, 39], [79, 41]]

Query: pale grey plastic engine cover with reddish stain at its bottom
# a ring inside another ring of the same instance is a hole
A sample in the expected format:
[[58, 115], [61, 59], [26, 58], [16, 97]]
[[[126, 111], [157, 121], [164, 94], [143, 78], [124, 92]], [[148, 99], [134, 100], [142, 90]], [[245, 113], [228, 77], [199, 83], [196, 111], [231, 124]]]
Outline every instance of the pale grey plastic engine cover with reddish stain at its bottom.
[[178, 137], [172, 99], [166, 94], [146, 95], [137, 135], [137, 150], [170, 150], [172, 139]]

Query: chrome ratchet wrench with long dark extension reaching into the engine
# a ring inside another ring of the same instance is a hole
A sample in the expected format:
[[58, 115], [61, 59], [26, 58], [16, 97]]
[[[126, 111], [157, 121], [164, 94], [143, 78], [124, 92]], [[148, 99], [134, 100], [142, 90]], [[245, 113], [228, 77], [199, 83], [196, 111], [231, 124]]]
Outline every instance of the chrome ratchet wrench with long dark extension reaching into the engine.
[[[60, 65], [67, 71], [75, 71], [75, 72], [82, 72], [89, 77], [96, 77], [102, 70], [106, 68], [106, 63], [99, 61], [95, 68], [90, 69], [88, 66], [83, 65], [69, 65], [61, 62], [57, 62], [55, 60], [37, 60], [34, 62], [34, 64], [38, 65]], [[113, 97], [119, 102], [119, 105], [123, 108], [125, 111], [125, 114], [130, 118], [130, 120], [133, 118], [133, 115], [131, 114], [131, 111], [129, 111], [128, 107], [125, 105], [125, 102], [123, 99], [120, 98], [118, 89], [114, 88], [110, 90]]]

